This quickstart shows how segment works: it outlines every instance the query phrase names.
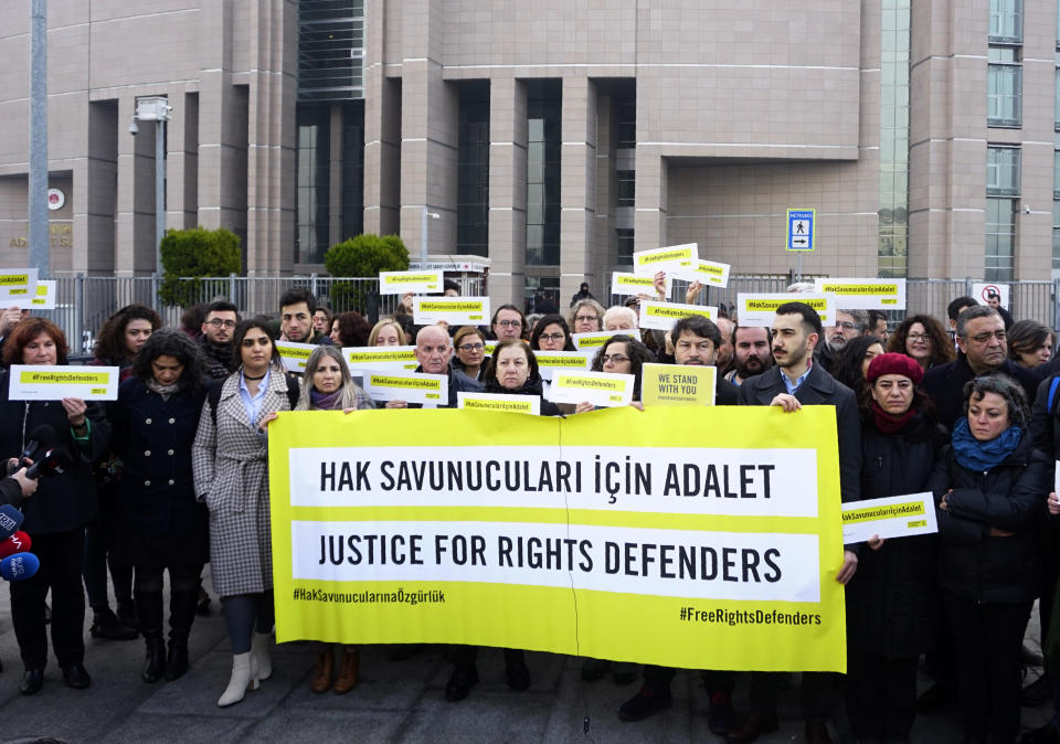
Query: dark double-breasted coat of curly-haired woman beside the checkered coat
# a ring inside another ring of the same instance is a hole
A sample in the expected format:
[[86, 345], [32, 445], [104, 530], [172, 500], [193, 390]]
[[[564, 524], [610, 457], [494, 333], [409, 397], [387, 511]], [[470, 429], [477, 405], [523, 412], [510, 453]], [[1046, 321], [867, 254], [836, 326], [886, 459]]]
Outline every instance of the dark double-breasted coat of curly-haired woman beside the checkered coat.
[[166, 401], [139, 378], [130, 378], [107, 406], [112, 449], [124, 465], [117, 492], [125, 529], [152, 536], [205, 533], [209, 514], [195, 498], [191, 468], [205, 397], [205, 387], [200, 387]]

